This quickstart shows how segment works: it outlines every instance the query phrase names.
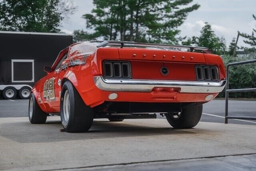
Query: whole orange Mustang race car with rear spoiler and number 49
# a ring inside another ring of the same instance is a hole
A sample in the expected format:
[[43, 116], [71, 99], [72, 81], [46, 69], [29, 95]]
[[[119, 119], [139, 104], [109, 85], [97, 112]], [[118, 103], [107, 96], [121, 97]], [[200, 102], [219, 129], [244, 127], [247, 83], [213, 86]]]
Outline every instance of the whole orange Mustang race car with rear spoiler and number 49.
[[60, 115], [68, 132], [110, 121], [166, 116], [175, 128], [196, 126], [202, 104], [226, 84], [225, 68], [208, 48], [121, 41], [90, 41], [62, 50], [33, 87], [31, 123]]

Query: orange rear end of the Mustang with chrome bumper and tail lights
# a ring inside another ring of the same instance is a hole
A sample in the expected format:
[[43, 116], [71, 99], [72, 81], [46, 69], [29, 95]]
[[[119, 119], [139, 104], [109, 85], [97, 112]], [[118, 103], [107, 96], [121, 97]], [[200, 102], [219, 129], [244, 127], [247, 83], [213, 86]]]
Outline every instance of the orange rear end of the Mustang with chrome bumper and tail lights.
[[225, 86], [220, 56], [153, 48], [98, 48], [95, 85], [104, 101], [208, 102]]

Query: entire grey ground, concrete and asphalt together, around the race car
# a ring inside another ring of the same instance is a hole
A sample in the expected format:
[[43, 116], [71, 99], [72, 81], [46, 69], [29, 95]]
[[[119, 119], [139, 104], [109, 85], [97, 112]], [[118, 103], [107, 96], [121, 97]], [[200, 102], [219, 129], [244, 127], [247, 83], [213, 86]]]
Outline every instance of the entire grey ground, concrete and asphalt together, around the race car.
[[[256, 114], [256, 101], [229, 107], [230, 115]], [[193, 129], [173, 129], [158, 115], [96, 119], [87, 133], [66, 133], [58, 116], [30, 124], [28, 100], [0, 100], [0, 170], [256, 170], [256, 121], [223, 124], [224, 109], [224, 100], [204, 104]]]

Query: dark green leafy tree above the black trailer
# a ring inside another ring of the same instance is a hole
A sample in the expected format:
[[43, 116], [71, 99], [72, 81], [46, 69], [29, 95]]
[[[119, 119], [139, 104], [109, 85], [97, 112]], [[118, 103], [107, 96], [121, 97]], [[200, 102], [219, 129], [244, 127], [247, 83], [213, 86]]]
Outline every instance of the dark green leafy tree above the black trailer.
[[60, 32], [64, 16], [75, 8], [67, 0], [0, 0], [0, 30]]

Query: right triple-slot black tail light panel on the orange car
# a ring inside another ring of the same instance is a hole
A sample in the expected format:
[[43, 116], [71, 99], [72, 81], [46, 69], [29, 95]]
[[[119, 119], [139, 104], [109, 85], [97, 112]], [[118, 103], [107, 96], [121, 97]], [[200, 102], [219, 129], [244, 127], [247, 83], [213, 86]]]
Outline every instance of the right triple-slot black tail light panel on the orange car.
[[218, 68], [216, 66], [196, 66], [196, 78], [198, 81], [218, 81]]

